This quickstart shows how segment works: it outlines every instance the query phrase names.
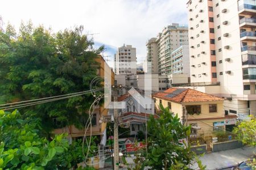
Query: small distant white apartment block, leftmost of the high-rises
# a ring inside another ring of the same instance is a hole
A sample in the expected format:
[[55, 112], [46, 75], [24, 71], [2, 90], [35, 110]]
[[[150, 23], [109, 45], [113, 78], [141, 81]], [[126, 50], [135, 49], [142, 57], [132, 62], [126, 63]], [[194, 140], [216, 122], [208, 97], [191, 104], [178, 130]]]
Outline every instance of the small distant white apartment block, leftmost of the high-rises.
[[136, 75], [137, 74], [137, 58], [136, 58], [136, 48], [131, 45], [125, 45], [118, 48], [115, 57], [115, 74], [127, 74]]

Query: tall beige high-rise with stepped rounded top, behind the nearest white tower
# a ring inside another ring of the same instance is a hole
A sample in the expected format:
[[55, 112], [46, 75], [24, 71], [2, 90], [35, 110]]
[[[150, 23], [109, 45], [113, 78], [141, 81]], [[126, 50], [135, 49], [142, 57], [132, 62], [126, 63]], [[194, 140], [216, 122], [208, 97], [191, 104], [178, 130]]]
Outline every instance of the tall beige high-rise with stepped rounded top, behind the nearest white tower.
[[183, 44], [188, 44], [188, 27], [174, 23], [165, 27], [156, 38], [148, 40], [147, 61], [152, 62], [152, 72], [159, 75], [172, 74], [172, 50]]

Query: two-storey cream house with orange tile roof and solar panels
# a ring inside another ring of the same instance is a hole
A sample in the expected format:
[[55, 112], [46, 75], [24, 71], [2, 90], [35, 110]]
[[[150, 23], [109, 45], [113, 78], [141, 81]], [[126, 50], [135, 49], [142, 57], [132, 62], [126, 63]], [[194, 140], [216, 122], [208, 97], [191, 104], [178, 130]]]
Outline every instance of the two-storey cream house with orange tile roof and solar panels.
[[236, 114], [224, 113], [224, 99], [191, 88], [169, 88], [153, 95], [156, 112], [159, 105], [169, 107], [185, 125], [191, 125], [191, 137], [206, 137], [215, 130], [232, 130]]

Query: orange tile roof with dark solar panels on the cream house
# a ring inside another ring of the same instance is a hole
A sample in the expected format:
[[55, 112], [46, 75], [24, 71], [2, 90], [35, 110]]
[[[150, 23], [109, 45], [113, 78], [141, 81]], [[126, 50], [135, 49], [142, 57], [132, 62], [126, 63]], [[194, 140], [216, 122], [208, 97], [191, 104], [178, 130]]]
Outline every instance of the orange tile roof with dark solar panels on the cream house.
[[220, 97], [205, 94], [191, 88], [169, 88], [166, 91], [155, 93], [152, 96], [176, 103], [224, 100]]

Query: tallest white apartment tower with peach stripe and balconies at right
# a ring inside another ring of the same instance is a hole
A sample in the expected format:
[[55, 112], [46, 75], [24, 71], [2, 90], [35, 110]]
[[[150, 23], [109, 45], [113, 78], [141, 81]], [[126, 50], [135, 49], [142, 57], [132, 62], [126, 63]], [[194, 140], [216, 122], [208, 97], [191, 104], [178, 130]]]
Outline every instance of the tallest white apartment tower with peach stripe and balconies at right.
[[[191, 83], [216, 83], [225, 113], [256, 114], [256, 1], [189, 0]], [[205, 90], [207, 91], [207, 90]]]

